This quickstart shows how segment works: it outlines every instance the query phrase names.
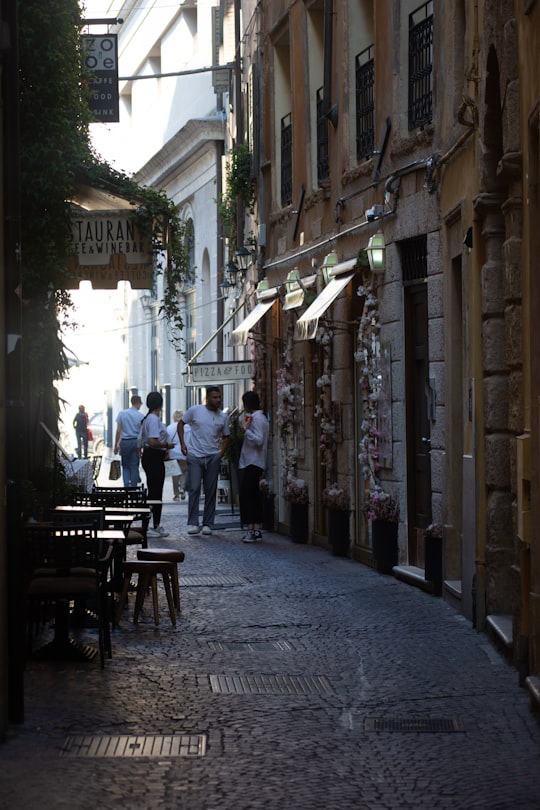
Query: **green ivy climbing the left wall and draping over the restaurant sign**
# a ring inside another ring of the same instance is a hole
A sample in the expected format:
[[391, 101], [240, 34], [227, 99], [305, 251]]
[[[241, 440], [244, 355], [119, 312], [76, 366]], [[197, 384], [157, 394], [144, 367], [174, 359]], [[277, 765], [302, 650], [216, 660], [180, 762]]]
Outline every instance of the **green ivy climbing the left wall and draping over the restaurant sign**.
[[136, 224], [151, 233], [159, 256], [167, 257], [158, 262], [165, 279], [160, 305], [176, 345], [183, 327], [178, 286], [191, 278], [192, 269], [185, 225], [174, 203], [163, 192], [113, 170], [91, 147], [78, 0], [25, 0], [18, 6], [22, 345], [31, 472], [45, 452], [39, 421], [56, 430], [53, 383], [68, 369], [63, 335], [73, 326], [70, 201], [77, 184], [88, 183], [132, 202]]

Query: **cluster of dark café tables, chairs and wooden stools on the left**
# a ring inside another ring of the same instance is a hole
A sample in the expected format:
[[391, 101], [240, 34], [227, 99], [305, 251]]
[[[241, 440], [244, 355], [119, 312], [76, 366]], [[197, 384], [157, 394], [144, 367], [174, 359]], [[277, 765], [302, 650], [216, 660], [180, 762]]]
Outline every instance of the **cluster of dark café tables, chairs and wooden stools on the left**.
[[[112, 630], [134, 592], [137, 623], [148, 590], [159, 624], [158, 575], [171, 624], [180, 611], [178, 550], [148, 549], [151, 504], [143, 487], [94, 487], [70, 504], [46, 511], [23, 527], [27, 654], [42, 660], [89, 661], [101, 666], [113, 654]], [[130, 546], [138, 546], [129, 554]], [[136, 581], [133, 582], [132, 580]], [[47, 631], [52, 639], [45, 643]], [[81, 644], [78, 631], [97, 631], [97, 645]]]

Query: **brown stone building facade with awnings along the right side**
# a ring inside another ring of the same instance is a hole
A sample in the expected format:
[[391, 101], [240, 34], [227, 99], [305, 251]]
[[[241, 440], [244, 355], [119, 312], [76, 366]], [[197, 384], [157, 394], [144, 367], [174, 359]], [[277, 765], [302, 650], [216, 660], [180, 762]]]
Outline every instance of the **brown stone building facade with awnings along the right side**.
[[538, 4], [238, 5], [245, 314], [257, 289], [273, 303], [236, 351], [272, 418], [279, 525], [299, 481], [326, 543], [336, 483], [350, 553], [373, 564], [362, 507], [380, 486], [400, 507], [394, 573], [425, 587], [440, 524], [444, 598], [537, 696]]

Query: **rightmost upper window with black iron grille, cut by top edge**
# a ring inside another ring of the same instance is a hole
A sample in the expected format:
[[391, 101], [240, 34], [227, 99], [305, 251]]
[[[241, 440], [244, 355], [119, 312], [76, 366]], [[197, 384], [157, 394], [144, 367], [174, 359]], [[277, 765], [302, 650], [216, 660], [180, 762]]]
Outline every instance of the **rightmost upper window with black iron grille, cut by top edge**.
[[433, 0], [409, 15], [409, 129], [433, 116]]

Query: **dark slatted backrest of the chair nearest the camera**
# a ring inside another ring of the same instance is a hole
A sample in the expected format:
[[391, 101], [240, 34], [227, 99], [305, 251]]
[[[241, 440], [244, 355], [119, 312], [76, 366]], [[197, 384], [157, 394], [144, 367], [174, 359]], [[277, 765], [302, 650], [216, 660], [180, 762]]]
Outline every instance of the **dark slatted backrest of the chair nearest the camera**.
[[[57, 526], [27, 524], [23, 529], [24, 566], [29, 576], [40, 569], [51, 575], [67, 575], [71, 568], [96, 568], [101, 556], [97, 530], [91, 524]], [[97, 574], [96, 574], [97, 576]]]

